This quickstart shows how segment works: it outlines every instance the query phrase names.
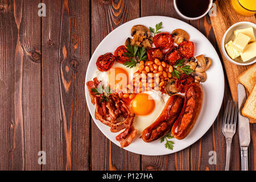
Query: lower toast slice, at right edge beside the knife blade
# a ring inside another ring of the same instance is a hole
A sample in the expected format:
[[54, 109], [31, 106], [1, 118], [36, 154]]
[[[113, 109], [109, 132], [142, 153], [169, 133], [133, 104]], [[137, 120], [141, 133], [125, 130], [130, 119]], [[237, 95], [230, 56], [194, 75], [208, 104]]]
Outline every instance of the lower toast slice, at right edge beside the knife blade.
[[251, 90], [251, 93], [243, 106], [242, 115], [247, 118], [256, 119], [256, 85], [254, 85], [253, 90]]

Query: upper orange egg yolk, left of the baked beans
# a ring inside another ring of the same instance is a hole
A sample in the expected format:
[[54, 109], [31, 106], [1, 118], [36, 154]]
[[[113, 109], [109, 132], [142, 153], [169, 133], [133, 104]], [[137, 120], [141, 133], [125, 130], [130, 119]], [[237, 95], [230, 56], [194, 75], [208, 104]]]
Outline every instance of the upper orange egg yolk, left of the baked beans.
[[109, 73], [109, 85], [113, 90], [120, 90], [127, 86], [129, 74], [123, 68], [111, 68]]

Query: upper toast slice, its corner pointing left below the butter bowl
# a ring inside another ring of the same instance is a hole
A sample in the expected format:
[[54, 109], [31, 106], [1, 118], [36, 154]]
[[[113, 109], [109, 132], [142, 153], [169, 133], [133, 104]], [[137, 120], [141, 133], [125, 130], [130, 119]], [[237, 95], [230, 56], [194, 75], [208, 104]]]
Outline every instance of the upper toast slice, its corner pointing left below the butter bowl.
[[238, 80], [251, 93], [253, 86], [256, 84], [256, 63], [246, 71], [242, 72], [238, 77]]

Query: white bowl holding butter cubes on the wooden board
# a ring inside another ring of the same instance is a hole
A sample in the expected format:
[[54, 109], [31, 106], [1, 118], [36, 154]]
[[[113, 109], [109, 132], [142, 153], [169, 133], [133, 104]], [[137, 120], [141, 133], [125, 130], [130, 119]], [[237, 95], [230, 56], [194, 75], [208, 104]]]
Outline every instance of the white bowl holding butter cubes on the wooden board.
[[237, 65], [250, 65], [256, 62], [256, 58], [252, 58], [248, 61], [243, 62], [241, 57], [238, 57], [236, 59], [232, 59], [229, 57], [228, 53], [226, 52], [225, 44], [228, 43], [230, 40], [234, 40], [234, 30], [241, 29], [241, 28], [248, 28], [248, 27], [253, 27], [254, 31], [254, 36], [256, 35], [256, 25], [251, 22], [238, 22], [233, 24], [231, 27], [228, 28], [228, 30], [225, 32], [224, 36], [222, 37], [222, 42], [221, 42], [221, 49], [222, 52], [224, 53], [224, 56], [226, 59], [228, 59], [231, 63], [237, 64]]

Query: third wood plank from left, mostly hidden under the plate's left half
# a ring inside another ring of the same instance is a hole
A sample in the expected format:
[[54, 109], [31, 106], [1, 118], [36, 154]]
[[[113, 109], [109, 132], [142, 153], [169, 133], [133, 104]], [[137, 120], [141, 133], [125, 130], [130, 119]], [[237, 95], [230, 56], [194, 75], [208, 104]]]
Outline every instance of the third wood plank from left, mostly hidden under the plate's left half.
[[[139, 11], [139, 0], [92, 1], [92, 52], [114, 28], [138, 18]], [[140, 155], [109, 142], [92, 121], [92, 170], [139, 170], [140, 161]]]

